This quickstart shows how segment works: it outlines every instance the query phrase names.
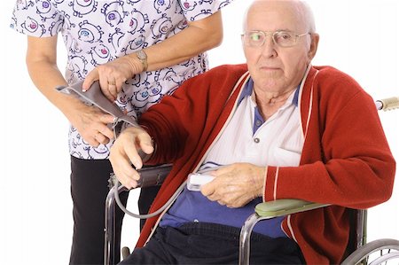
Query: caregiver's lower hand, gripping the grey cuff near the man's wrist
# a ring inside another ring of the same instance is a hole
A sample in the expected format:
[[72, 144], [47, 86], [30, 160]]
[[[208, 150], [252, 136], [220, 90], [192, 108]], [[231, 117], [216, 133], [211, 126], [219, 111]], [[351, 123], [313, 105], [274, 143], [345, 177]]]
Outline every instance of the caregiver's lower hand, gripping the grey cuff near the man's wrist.
[[113, 116], [103, 113], [96, 106], [80, 103], [74, 108], [74, 115], [70, 121], [84, 141], [91, 146], [108, 144], [113, 139], [113, 131], [106, 126], [113, 123]]

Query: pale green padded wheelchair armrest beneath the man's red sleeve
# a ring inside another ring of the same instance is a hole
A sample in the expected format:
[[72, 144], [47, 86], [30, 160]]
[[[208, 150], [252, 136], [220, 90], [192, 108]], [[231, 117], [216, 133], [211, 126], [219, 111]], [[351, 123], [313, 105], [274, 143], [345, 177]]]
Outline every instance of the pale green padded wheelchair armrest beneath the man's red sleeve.
[[301, 199], [277, 199], [262, 202], [255, 207], [256, 214], [262, 217], [278, 217], [287, 214], [295, 214], [304, 211], [327, 207], [328, 204], [314, 203]]

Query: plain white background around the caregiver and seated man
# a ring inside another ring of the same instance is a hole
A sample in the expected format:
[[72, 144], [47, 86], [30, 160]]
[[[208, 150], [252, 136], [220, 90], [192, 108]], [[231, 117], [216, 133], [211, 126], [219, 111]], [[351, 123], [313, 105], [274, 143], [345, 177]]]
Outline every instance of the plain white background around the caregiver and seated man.
[[[72, 238], [68, 124], [35, 89], [25, 66], [26, 36], [9, 28], [13, 0], [2, 2], [1, 264], [66, 264]], [[239, 34], [248, 0], [223, 10], [224, 41], [209, 52], [211, 66], [245, 62]], [[321, 35], [314, 65], [352, 75], [372, 97], [399, 96], [399, 4], [396, 0], [309, 1]], [[66, 53], [59, 41], [59, 66]], [[45, 73], [43, 73], [45, 74]], [[351, 104], [357, 104], [352, 102]], [[380, 113], [399, 160], [399, 111]], [[359, 121], [362, 122], [362, 121]], [[369, 240], [399, 239], [399, 187], [385, 204], [369, 211]], [[361, 183], [359, 183], [361, 189]], [[136, 210], [137, 191], [129, 208]], [[138, 221], [126, 218], [122, 245], [134, 246]]]

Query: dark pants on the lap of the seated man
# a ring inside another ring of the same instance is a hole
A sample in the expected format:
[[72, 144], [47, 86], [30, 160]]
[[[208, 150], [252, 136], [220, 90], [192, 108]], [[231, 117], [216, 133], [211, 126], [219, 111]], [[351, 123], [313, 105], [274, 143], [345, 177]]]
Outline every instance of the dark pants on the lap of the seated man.
[[[190, 222], [175, 229], [157, 228], [143, 248], [120, 264], [237, 264], [238, 228]], [[304, 264], [299, 246], [290, 238], [269, 238], [253, 233], [251, 264]]]

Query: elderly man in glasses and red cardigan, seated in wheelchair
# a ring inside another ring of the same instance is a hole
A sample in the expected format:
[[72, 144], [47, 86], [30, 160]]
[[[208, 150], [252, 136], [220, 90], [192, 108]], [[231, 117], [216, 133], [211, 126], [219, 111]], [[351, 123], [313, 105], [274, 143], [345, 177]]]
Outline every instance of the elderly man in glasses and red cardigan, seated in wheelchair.
[[252, 263], [341, 261], [347, 207], [387, 200], [395, 160], [372, 97], [347, 74], [310, 65], [318, 39], [307, 4], [254, 1], [242, 35], [246, 65], [192, 78], [143, 114], [142, 129], [123, 131], [110, 159], [126, 187], [137, 185], [139, 149], [152, 154], [147, 164], [174, 164], [153, 211], [190, 173], [215, 176], [149, 219], [123, 264], [237, 263], [239, 228], [254, 205], [286, 198], [334, 206], [258, 223]]

